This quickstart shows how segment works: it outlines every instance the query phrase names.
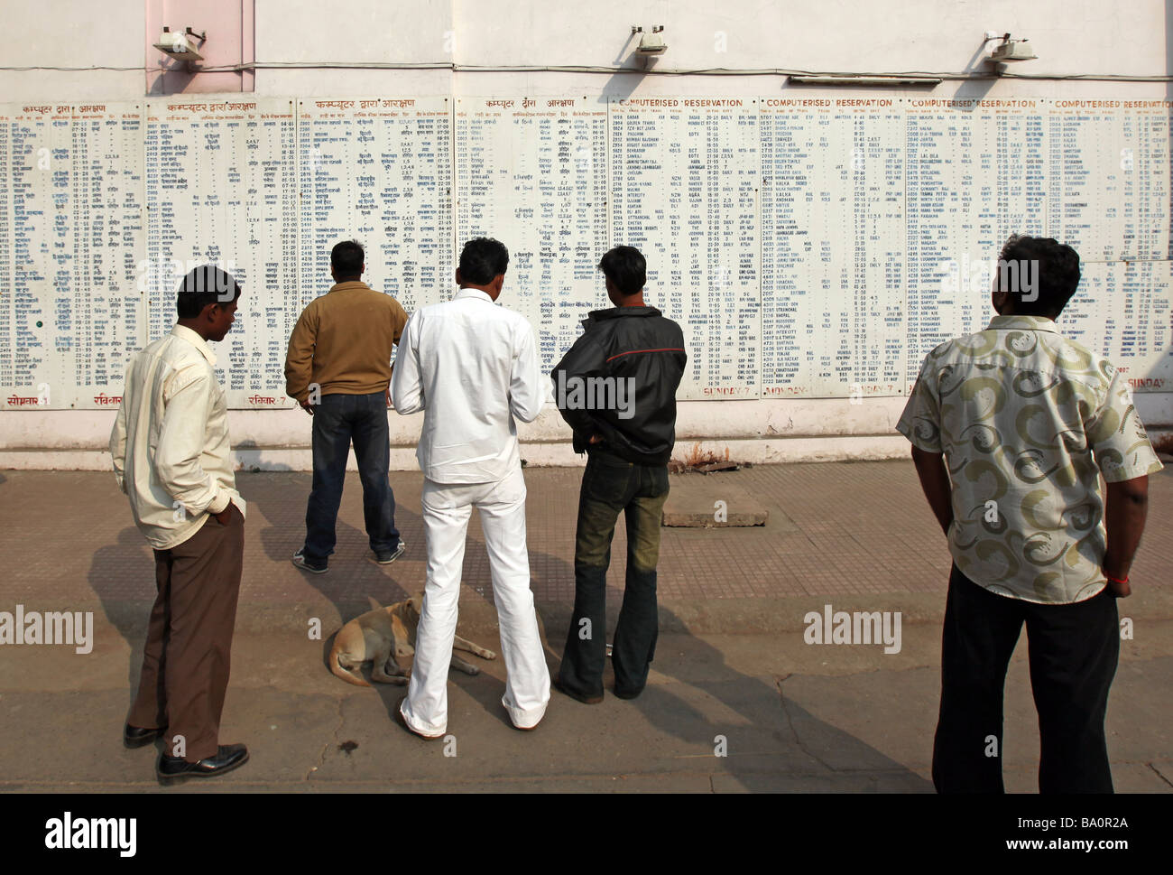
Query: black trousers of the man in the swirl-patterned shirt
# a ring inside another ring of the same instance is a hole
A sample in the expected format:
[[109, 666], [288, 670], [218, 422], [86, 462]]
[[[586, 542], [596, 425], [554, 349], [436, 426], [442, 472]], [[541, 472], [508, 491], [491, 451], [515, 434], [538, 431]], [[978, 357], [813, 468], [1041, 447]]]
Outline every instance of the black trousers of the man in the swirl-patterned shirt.
[[934, 786], [938, 793], [1005, 792], [1002, 695], [1023, 622], [1038, 709], [1039, 792], [1111, 793], [1104, 716], [1120, 654], [1116, 597], [1105, 587], [1073, 605], [1038, 605], [992, 593], [956, 566], [942, 635]]

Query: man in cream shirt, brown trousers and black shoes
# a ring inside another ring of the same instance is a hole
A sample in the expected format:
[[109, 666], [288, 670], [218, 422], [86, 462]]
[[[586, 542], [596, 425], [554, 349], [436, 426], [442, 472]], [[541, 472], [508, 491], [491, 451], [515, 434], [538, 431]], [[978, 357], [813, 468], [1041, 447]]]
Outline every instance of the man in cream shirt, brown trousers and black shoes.
[[211, 265], [184, 277], [178, 322], [130, 361], [110, 435], [114, 473], [155, 550], [158, 587], [123, 743], [143, 747], [164, 736], [156, 766], [164, 782], [221, 775], [249, 759], [244, 745], [218, 739], [245, 506], [208, 348], [231, 329], [239, 295], [236, 281]]

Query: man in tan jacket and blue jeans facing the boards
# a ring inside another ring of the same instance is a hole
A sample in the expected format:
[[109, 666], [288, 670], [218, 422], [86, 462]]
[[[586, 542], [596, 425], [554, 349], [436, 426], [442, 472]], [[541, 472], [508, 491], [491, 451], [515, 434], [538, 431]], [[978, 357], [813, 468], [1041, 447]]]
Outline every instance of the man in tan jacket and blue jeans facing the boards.
[[391, 359], [407, 314], [395, 298], [361, 282], [364, 270], [365, 254], [357, 241], [334, 247], [334, 285], [301, 312], [285, 357], [285, 392], [313, 417], [313, 487], [305, 544], [293, 564], [314, 574], [326, 572], [334, 552], [352, 440], [374, 561], [393, 563], [407, 546], [395, 529], [395, 496], [387, 482]]

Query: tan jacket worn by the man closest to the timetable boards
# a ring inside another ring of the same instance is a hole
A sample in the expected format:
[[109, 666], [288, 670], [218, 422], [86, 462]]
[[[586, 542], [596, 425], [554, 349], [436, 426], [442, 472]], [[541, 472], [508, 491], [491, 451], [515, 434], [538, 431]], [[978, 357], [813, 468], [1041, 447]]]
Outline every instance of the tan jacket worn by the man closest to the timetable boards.
[[364, 282], [338, 283], [301, 311], [285, 356], [285, 393], [372, 395], [391, 383], [392, 346], [407, 314], [391, 295]]

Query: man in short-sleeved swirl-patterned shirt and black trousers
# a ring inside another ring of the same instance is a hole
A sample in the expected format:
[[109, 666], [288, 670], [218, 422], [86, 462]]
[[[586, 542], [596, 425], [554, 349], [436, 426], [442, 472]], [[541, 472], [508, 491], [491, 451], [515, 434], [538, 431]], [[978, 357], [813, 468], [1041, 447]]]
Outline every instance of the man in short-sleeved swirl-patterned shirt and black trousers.
[[[1079, 256], [1011, 237], [985, 331], [924, 359], [896, 429], [949, 540], [938, 793], [1001, 793], [1002, 696], [1023, 622], [1038, 708], [1042, 793], [1111, 793], [1104, 718], [1148, 474], [1161, 469], [1110, 362], [1055, 319]], [[1107, 503], [1099, 476], [1107, 483]]]

